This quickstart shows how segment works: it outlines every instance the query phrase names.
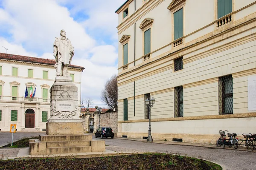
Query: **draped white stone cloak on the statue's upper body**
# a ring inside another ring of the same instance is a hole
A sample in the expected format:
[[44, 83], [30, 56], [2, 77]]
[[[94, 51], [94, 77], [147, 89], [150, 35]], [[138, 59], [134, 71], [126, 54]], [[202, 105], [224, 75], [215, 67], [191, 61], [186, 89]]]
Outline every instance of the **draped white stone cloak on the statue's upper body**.
[[68, 38], [64, 39], [62, 37], [56, 37], [53, 46], [57, 47], [57, 49], [54, 48], [54, 52], [58, 52], [56, 54], [55, 60], [63, 62], [64, 65], [70, 65], [73, 57], [71, 51], [74, 51], [74, 47], [72, 46], [71, 41]]

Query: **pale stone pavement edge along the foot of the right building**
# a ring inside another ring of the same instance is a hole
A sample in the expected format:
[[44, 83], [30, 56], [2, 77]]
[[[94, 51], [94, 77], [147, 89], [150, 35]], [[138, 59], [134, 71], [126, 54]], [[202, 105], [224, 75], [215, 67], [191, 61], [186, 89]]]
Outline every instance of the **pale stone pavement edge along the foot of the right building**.
[[[115, 138], [115, 139], [120, 139], [120, 140], [130, 140], [130, 141], [138, 141], [138, 142], [146, 142], [146, 141], [142, 141], [143, 139], [131, 139], [131, 138]], [[163, 142], [149, 142], [149, 143], [157, 143], [157, 144], [172, 144], [172, 145], [183, 145], [183, 146], [193, 146], [193, 147], [205, 147], [205, 148], [211, 148], [211, 149], [222, 149], [222, 147], [216, 147], [214, 145], [212, 146], [206, 146], [206, 145], [195, 145], [195, 143], [186, 143], [186, 142], [180, 142], [180, 143], [163, 143]], [[247, 151], [247, 152], [255, 152], [254, 150], [250, 150], [250, 149], [233, 149], [233, 147], [225, 147], [225, 149], [229, 149], [229, 150], [239, 150], [239, 151]]]

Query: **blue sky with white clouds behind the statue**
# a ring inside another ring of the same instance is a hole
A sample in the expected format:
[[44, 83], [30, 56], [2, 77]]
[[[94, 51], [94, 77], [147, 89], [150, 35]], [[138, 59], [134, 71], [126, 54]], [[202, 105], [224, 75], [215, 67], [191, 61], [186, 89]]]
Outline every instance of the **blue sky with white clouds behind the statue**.
[[115, 13], [125, 0], [0, 0], [0, 52], [53, 59], [52, 43], [65, 29], [75, 48], [72, 64], [85, 67], [82, 98], [100, 100], [117, 74]]

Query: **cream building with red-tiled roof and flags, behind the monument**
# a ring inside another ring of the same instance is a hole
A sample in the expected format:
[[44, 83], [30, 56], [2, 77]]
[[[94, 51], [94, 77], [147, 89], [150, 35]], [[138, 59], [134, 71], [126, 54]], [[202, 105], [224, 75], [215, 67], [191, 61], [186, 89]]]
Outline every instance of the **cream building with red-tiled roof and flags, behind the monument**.
[[[0, 53], [1, 131], [9, 131], [11, 124], [17, 124], [17, 131], [46, 130], [50, 116], [49, 89], [56, 77], [54, 64], [54, 59]], [[84, 68], [69, 65], [68, 70], [78, 87], [80, 100], [81, 72]]]

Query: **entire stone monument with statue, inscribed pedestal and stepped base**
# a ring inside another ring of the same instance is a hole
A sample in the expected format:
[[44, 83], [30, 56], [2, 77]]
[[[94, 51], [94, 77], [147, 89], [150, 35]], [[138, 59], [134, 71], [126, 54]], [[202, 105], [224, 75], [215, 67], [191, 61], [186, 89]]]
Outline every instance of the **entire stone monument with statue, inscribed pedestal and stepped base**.
[[75, 54], [66, 31], [55, 38], [53, 56], [55, 57], [56, 78], [50, 88], [50, 118], [46, 123], [46, 134], [39, 139], [30, 139], [31, 155], [58, 153], [103, 152], [105, 141], [93, 141], [91, 135], [84, 134], [80, 115], [78, 88], [68, 73], [68, 65]]

